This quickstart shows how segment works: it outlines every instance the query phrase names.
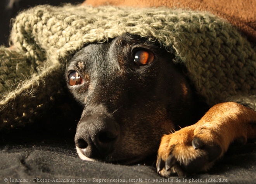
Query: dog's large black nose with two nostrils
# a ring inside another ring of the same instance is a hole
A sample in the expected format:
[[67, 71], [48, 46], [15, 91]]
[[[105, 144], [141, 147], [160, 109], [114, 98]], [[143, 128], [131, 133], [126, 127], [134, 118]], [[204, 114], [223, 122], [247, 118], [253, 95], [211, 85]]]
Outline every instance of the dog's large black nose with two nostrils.
[[104, 160], [118, 137], [119, 125], [110, 114], [85, 114], [76, 129], [75, 143], [85, 157]]

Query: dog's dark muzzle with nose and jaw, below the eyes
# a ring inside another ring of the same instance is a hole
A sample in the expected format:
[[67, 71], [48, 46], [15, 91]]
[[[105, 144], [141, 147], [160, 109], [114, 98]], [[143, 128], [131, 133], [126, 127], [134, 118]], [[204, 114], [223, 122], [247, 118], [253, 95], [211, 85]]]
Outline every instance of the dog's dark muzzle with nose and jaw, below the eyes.
[[89, 109], [93, 114], [86, 109], [76, 130], [76, 150], [82, 160], [130, 165], [152, 153], [152, 146], [144, 145], [146, 138], [138, 132], [123, 130], [123, 124], [117, 123], [106, 106], [95, 109]]

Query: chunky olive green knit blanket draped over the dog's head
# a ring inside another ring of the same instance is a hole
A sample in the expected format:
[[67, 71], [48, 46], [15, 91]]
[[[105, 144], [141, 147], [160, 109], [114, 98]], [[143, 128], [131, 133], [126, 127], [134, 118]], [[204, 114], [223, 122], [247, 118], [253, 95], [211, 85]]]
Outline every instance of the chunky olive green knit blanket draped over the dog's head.
[[[23, 126], [64, 93], [71, 55], [125, 33], [175, 52], [209, 105], [256, 94], [256, 49], [227, 21], [207, 12], [166, 8], [38, 6], [21, 12], [0, 47], [0, 129]], [[170, 61], [171, 62], [171, 61]]]

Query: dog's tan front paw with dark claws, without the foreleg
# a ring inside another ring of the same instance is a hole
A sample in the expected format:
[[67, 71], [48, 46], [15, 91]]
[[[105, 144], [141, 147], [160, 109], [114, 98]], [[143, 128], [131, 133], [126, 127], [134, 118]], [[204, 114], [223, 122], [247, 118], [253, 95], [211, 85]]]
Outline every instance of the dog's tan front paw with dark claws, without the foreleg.
[[223, 155], [219, 138], [216, 132], [197, 125], [164, 135], [158, 150], [157, 172], [167, 177], [208, 170]]

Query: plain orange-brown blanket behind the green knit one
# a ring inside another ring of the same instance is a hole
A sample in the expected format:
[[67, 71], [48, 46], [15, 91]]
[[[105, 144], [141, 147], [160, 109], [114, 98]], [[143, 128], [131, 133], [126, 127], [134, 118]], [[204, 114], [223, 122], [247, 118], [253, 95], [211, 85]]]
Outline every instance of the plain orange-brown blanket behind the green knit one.
[[256, 1], [255, 0], [86, 0], [86, 5], [114, 5], [127, 7], [189, 8], [208, 11], [227, 19], [256, 42]]

